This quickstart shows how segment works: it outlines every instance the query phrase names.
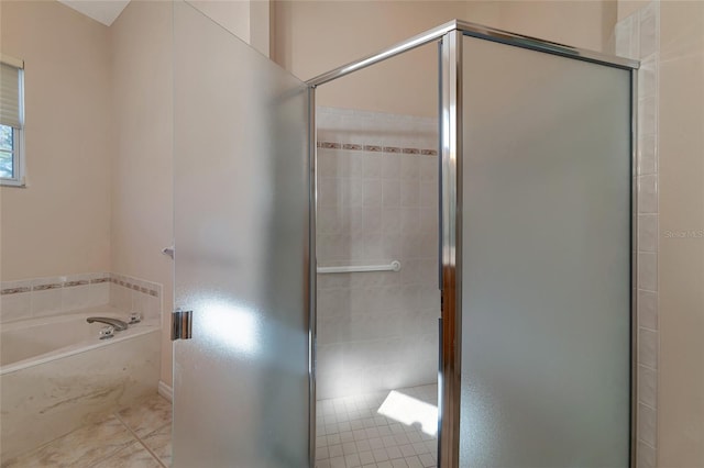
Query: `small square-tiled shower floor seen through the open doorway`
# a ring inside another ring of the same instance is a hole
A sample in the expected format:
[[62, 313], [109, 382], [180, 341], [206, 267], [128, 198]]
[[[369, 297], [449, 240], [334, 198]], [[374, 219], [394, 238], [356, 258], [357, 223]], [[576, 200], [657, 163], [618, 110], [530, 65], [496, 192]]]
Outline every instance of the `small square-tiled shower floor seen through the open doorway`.
[[[437, 385], [396, 392], [437, 408]], [[318, 401], [316, 468], [436, 468], [435, 435], [424, 433], [419, 424], [407, 425], [380, 414], [389, 394]]]

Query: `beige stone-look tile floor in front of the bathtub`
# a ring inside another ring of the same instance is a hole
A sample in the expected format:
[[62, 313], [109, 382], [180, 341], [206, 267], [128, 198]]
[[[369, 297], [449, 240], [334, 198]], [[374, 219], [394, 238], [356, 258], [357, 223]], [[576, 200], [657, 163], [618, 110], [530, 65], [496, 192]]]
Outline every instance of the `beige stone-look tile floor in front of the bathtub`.
[[158, 394], [80, 427], [2, 468], [164, 468], [170, 466], [172, 403]]

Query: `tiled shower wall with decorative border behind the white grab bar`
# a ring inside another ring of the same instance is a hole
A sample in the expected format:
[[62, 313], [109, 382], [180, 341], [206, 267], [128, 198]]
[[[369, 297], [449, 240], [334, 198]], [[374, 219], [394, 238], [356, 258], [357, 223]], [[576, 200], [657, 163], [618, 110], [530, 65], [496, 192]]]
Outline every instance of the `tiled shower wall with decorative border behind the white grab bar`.
[[318, 109], [318, 399], [437, 380], [437, 119]]

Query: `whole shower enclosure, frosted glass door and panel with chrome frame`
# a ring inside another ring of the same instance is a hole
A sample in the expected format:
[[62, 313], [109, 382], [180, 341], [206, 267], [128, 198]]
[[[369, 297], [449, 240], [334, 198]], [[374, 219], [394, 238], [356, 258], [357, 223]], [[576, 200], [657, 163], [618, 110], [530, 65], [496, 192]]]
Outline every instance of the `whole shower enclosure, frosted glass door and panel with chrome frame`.
[[437, 465], [635, 463], [637, 64], [453, 21], [304, 83], [177, 2], [175, 467], [316, 465], [316, 90], [432, 43]]

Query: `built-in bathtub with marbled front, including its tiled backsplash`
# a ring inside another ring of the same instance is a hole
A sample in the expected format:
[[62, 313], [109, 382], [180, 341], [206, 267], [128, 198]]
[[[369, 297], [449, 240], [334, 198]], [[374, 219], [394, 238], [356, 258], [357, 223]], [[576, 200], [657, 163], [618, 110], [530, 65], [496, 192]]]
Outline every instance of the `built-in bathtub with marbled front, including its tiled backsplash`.
[[[158, 285], [108, 274], [2, 283], [2, 463], [156, 392], [161, 296]], [[111, 297], [129, 305], [111, 307]], [[98, 339], [102, 324], [86, 322], [131, 312], [142, 323], [106, 341]]]

